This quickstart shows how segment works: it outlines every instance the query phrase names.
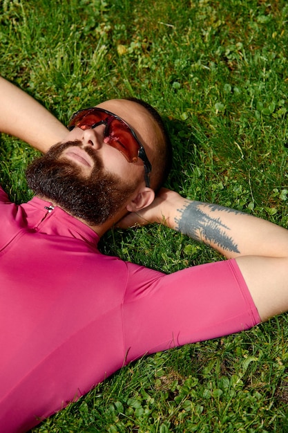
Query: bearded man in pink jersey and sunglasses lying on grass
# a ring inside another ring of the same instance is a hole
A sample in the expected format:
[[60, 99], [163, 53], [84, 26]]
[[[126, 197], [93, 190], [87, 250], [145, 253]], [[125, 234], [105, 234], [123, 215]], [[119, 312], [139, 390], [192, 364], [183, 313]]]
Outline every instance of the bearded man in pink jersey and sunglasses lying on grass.
[[[108, 100], [75, 113], [66, 129], [3, 79], [0, 99], [1, 131], [44, 153], [27, 170], [31, 201], [15, 205], [0, 190], [6, 433], [29, 430], [145, 353], [249, 329], [288, 309], [287, 230], [161, 189], [171, 150], [153, 109]], [[146, 223], [227, 260], [165, 275], [97, 250], [113, 225]]]

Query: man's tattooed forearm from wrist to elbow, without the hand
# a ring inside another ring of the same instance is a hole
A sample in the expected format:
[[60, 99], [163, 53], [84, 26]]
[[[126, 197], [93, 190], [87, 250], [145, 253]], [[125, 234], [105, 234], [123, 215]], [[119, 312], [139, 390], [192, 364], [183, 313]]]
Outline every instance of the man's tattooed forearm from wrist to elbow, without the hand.
[[288, 231], [276, 224], [220, 205], [182, 199], [169, 226], [207, 243], [225, 257], [288, 256]]

